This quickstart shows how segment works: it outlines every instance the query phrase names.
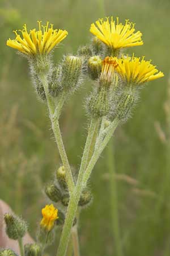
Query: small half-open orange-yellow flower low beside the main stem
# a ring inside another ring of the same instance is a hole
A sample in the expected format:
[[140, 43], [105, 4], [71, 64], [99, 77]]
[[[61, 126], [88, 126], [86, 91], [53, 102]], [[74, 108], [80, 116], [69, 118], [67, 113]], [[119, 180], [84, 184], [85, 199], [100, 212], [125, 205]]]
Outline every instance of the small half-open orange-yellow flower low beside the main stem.
[[54, 221], [58, 218], [58, 210], [53, 204], [46, 205], [45, 208], [42, 209], [42, 216], [43, 218], [40, 223], [42, 228], [45, 228], [48, 231], [52, 230]]

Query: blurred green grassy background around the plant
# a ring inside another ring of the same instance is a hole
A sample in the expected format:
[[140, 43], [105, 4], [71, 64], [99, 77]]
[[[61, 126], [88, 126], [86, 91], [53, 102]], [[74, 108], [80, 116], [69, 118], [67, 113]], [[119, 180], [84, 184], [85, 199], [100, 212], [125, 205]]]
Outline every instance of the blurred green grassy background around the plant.
[[[48, 112], [37, 101], [27, 60], [6, 47], [6, 40], [13, 38], [12, 30], [22, 28], [24, 23], [32, 28], [37, 20], [49, 20], [55, 27], [69, 31], [69, 36], [54, 52], [57, 63], [63, 53], [76, 53], [79, 45], [89, 42], [92, 22], [109, 15], [119, 16], [122, 22], [130, 19], [136, 23], [145, 44], [128, 52], [152, 59], [165, 74], [163, 79], [150, 82], [142, 90], [133, 118], [118, 128], [114, 154], [110, 151], [110, 158], [115, 160], [121, 244], [125, 256], [168, 256], [170, 139], [167, 143], [160, 139], [159, 126], [167, 136], [170, 134], [168, 113], [164, 111], [170, 71], [169, 0], [0, 0], [0, 197], [28, 219], [34, 237], [33, 227], [46, 203], [43, 184], [61, 164]], [[61, 118], [66, 151], [74, 168], [79, 167], [86, 139], [87, 117], [83, 105], [91, 86], [89, 81], [82, 86], [67, 102]], [[83, 256], [118, 256], [109, 180], [105, 150], [91, 177], [94, 201], [83, 210], [79, 222]], [[57, 241], [60, 232], [58, 229]]]

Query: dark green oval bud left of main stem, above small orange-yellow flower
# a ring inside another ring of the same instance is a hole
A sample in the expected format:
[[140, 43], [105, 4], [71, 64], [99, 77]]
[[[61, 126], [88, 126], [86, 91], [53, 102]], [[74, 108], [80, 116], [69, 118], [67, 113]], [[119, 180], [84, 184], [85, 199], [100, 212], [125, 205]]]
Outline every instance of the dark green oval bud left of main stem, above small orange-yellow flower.
[[55, 203], [61, 200], [61, 191], [54, 183], [50, 183], [45, 186], [45, 193], [49, 197], [49, 199]]

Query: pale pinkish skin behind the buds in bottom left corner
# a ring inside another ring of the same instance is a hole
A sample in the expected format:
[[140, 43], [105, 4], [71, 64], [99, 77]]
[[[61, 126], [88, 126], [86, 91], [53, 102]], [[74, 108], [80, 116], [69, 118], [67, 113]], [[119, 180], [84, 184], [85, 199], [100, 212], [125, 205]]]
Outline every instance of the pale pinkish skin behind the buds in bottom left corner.
[[[5, 233], [5, 222], [3, 221], [3, 215], [5, 213], [12, 213], [12, 210], [4, 201], [0, 200], [0, 248], [10, 248], [19, 255], [18, 241], [11, 240]], [[23, 237], [23, 244], [25, 245], [25, 243], [33, 243], [29, 234], [25, 234]]]

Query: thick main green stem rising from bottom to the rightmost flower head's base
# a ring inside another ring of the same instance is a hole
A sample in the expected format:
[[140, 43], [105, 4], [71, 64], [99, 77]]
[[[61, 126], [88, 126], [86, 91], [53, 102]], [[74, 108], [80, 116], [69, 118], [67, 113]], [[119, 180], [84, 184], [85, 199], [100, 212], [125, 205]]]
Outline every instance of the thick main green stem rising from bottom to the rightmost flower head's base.
[[[68, 245], [69, 238], [70, 238], [70, 232], [71, 232], [71, 228], [73, 226], [73, 221], [74, 221], [74, 217], [76, 214], [76, 209], [78, 207], [78, 202], [79, 202], [80, 196], [82, 194], [82, 190], [84, 187], [86, 187], [87, 180], [90, 177], [92, 169], [94, 168], [95, 163], [97, 162], [97, 159], [99, 159], [101, 152], [104, 150], [105, 146], [107, 146], [109, 139], [111, 139], [112, 134], [114, 133], [114, 130], [116, 129], [118, 123], [119, 123], [118, 119], [114, 119], [112, 126], [111, 126], [111, 130], [105, 136], [105, 139], [104, 139], [103, 143], [101, 144], [101, 147], [99, 148], [99, 150], [94, 152], [94, 155], [92, 156], [91, 161], [88, 164], [86, 171], [84, 172], [84, 175], [80, 174], [80, 172], [79, 172], [79, 176], [81, 175], [82, 179], [80, 179], [78, 177], [78, 181], [76, 183], [74, 192], [70, 196], [70, 202], [69, 202], [69, 206], [67, 208], [65, 224], [64, 224], [63, 230], [62, 230], [57, 256], [65, 256], [66, 255], [67, 245]], [[92, 127], [94, 126], [93, 121], [92, 121], [91, 126]], [[88, 136], [91, 137], [90, 133]], [[88, 141], [88, 138], [87, 138], [87, 141]], [[85, 146], [85, 148], [86, 148], [86, 146]], [[85, 152], [84, 154], [86, 155], [87, 153]], [[82, 162], [85, 162], [85, 161], [82, 159]]]

